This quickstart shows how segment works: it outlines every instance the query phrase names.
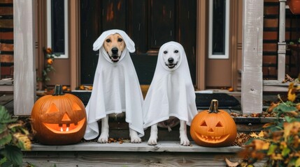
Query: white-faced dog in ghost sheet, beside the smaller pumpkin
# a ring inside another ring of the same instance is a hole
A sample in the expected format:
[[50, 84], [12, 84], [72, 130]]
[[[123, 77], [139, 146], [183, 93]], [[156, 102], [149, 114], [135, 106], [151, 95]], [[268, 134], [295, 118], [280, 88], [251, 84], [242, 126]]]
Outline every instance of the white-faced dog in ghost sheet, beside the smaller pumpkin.
[[148, 145], [157, 144], [157, 125], [178, 118], [180, 145], [190, 145], [187, 126], [197, 114], [187, 57], [178, 42], [159, 49], [155, 74], [143, 103], [143, 127], [151, 127]]

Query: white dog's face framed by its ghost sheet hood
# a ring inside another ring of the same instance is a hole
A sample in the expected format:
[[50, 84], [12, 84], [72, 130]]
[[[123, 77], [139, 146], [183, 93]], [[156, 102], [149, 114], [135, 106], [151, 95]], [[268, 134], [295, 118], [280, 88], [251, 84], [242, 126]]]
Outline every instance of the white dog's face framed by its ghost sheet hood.
[[175, 45], [164, 47], [162, 50], [162, 59], [166, 67], [168, 67], [170, 70], [173, 69], [180, 61], [180, 49], [178, 49], [178, 47]]

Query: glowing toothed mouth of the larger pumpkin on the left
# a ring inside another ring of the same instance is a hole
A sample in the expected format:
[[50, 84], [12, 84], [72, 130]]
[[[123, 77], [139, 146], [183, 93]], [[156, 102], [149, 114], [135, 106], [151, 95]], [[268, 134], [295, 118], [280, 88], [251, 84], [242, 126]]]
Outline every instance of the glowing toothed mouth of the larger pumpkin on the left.
[[43, 123], [47, 129], [55, 134], [72, 134], [78, 132], [85, 125], [85, 118], [76, 123], [69, 124], [50, 124]]

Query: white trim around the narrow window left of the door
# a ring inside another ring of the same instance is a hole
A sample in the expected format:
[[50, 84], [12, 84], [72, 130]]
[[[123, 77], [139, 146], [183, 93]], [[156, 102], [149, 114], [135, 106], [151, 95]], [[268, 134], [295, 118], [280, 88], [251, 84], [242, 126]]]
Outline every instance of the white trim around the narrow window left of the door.
[[[69, 32], [68, 32], [68, 0], [64, 0], [64, 54], [57, 58], [69, 58]], [[51, 0], [47, 0], [47, 47], [52, 48], [51, 38]]]

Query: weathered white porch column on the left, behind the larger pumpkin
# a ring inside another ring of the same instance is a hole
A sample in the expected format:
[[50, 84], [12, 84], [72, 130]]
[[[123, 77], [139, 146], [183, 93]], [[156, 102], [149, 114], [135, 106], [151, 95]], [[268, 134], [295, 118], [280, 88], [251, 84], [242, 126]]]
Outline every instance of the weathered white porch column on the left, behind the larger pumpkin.
[[35, 0], [13, 1], [14, 114], [30, 115], [36, 100]]

